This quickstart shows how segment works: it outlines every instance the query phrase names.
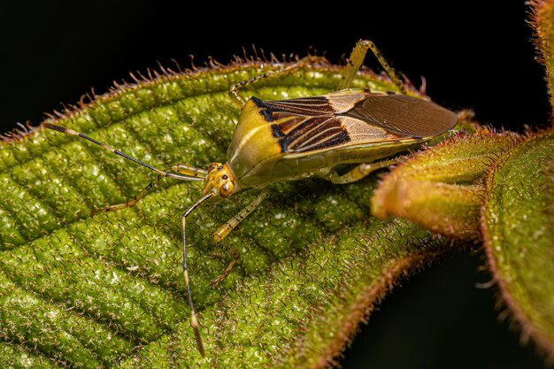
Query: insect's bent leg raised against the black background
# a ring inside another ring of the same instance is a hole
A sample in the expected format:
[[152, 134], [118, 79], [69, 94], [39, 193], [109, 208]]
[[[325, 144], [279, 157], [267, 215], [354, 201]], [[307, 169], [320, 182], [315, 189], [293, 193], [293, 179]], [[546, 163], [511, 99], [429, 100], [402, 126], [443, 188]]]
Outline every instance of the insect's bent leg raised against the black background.
[[350, 58], [348, 59], [348, 64], [346, 65], [346, 68], [344, 68], [342, 81], [339, 83], [339, 89], [350, 88], [352, 80], [356, 77], [356, 73], [358, 73], [358, 70], [364, 61], [365, 53], [368, 49], [373, 51], [373, 55], [377, 58], [377, 60], [379, 60], [379, 63], [389, 75], [389, 78], [396, 84], [398, 91], [405, 95], [406, 90], [404, 88], [404, 83], [402, 83], [400, 78], [398, 78], [395, 70], [389, 65], [389, 63], [387, 63], [387, 60], [383, 57], [381, 51], [377, 49], [377, 46], [369, 40], [360, 40], [356, 43], [356, 46], [354, 46], [354, 49], [350, 54]]

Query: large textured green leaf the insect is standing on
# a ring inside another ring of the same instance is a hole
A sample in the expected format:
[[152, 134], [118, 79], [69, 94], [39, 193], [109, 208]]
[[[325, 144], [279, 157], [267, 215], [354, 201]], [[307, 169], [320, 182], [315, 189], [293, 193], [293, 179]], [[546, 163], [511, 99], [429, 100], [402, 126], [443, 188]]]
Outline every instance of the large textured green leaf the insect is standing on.
[[[50, 122], [150, 165], [205, 167], [224, 160], [238, 118], [229, 86], [280, 67], [245, 62], [167, 73]], [[340, 71], [318, 60], [243, 94], [326, 93]], [[394, 89], [368, 72], [355, 86]], [[217, 247], [212, 232], [256, 191], [205, 206], [188, 229], [202, 359], [181, 271], [181, 213], [200, 187], [164, 181], [135, 207], [91, 219], [91, 210], [135, 196], [155, 173], [42, 128], [8, 141], [0, 145], [4, 367], [322, 367], [396, 281], [456, 250], [403, 220], [371, 219], [374, 177], [346, 186], [273, 185], [270, 198]], [[210, 288], [233, 250], [241, 253], [235, 270]]]

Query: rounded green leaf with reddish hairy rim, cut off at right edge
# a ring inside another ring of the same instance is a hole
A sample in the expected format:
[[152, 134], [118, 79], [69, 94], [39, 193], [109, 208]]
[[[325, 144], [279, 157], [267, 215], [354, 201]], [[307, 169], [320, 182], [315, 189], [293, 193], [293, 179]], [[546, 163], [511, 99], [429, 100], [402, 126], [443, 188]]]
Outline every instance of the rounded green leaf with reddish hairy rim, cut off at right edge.
[[531, 135], [487, 177], [482, 230], [489, 267], [521, 340], [554, 358], [554, 135]]

